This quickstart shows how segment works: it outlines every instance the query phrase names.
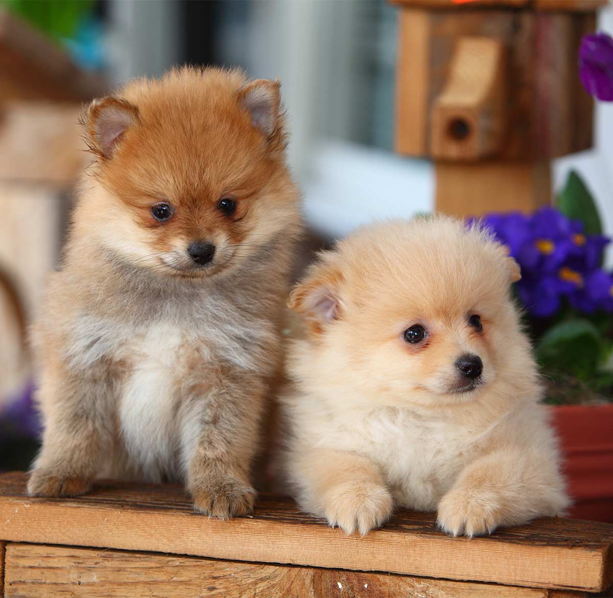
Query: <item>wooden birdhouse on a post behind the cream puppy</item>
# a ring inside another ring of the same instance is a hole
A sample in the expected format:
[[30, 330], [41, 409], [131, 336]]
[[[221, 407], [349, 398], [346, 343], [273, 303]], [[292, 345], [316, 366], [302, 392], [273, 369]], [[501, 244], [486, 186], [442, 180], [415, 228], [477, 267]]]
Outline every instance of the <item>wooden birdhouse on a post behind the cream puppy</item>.
[[590, 148], [581, 38], [607, 0], [394, 0], [396, 149], [435, 161], [436, 209], [533, 210], [553, 158]]

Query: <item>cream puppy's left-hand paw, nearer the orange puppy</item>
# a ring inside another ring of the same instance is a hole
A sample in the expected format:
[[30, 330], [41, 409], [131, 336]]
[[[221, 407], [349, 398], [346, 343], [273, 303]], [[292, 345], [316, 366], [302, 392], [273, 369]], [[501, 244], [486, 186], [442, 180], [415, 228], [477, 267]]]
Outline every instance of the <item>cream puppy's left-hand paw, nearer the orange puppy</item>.
[[330, 489], [324, 506], [332, 527], [365, 536], [389, 519], [394, 499], [385, 486], [377, 483], [345, 482]]

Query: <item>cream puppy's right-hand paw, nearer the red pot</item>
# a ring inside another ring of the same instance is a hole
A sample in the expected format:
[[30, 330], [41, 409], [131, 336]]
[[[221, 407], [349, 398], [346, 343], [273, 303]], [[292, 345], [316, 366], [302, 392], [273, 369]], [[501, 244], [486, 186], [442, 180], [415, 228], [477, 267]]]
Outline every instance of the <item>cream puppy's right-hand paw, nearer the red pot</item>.
[[500, 500], [492, 492], [452, 490], [438, 504], [438, 526], [452, 536], [491, 534], [503, 520]]

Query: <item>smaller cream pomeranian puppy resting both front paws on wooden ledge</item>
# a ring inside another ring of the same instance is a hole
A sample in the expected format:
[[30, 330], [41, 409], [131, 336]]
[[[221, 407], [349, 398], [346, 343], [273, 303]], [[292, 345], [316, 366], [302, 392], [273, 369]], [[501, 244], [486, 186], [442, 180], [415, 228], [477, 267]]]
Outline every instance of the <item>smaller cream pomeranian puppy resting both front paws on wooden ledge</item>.
[[470, 537], [565, 509], [509, 296], [519, 278], [487, 232], [442, 217], [376, 224], [319, 254], [291, 295], [309, 326], [283, 398], [305, 510], [348, 534], [394, 505], [437, 510]]

